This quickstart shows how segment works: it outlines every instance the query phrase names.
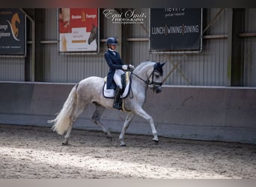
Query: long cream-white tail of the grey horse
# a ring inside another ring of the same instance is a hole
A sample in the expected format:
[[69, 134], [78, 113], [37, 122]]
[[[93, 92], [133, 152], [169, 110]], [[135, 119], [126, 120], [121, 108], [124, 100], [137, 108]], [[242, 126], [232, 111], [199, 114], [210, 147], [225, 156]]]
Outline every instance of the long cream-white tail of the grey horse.
[[56, 131], [59, 135], [63, 135], [67, 131], [70, 125], [72, 125], [73, 110], [76, 108], [76, 88], [74, 86], [67, 96], [66, 102], [64, 102], [61, 111], [58, 113], [54, 120], [49, 120], [48, 123], [54, 123], [52, 130]]

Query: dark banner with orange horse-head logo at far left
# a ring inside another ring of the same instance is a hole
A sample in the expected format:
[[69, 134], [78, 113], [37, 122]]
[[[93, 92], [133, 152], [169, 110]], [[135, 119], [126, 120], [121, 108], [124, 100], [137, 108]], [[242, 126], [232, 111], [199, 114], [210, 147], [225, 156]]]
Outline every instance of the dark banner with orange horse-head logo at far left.
[[0, 55], [25, 56], [25, 15], [19, 9], [0, 9]]

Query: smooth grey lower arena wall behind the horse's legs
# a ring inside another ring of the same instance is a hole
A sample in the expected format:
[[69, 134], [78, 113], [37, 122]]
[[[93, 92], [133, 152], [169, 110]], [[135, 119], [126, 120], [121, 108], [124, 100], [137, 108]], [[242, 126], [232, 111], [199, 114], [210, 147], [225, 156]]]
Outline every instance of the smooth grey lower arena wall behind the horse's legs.
[[[0, 82], [0, 123], [49, 126], [73, 84]], [[164, 86], [162, 93], [147, 90], [144, 110], [153, 117], [160, 136], [256, 144], [256, 89]], [[94, 105], [82, 113], [74, 128], [101, 130], [91, 121]], [[126, 114], [107, 109], [102, 123], [121, 132]], [[151, 135], [149, 123], [132, 120], [128, 133]]]

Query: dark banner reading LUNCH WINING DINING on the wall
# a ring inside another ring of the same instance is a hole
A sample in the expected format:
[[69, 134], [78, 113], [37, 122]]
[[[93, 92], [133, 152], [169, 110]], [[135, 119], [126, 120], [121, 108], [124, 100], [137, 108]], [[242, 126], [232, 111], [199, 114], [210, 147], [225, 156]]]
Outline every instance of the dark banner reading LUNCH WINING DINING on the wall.
[[151, 8], [150, 52], [200, 52], [201, 8]]

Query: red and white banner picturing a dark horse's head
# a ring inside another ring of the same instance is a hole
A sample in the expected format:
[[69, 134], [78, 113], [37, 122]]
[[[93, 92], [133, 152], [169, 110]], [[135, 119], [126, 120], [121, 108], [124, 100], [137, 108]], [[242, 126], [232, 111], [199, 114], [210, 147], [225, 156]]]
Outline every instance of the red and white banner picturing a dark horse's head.
[[98, 52], [97, 8], [59, 8], [59, 52]]

